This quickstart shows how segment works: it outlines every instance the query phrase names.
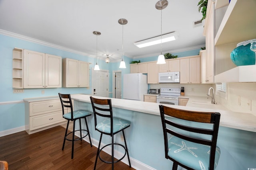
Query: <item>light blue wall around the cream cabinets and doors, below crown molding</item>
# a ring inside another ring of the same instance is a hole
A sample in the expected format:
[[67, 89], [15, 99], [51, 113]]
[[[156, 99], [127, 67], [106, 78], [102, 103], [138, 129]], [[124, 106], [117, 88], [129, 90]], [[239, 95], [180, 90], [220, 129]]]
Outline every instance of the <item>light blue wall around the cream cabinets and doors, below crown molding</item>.
[[[94, 67], [96, 64], [96, 59], [88, 56], [83, 56], [76, 53], [71, 53], [68, 51], [48, 47], [45, 45], [40, 45], [37, 43], [32, 43], [30, 41], [25, 41], [22, 39], [9, 37], [6, 35], [0, 34], [0, 132], [6, 131], [8, 129], [23, 127], [24, 124], [24, 103], [16, 104], [16, 101], [23, 100], [24, 98], [38, 98], [46, 96], [57, 96], [58, 93], [83, 93], [91, 94], [91, 88], [36, 88], [36, 89], [24, 89], [24, 93], [13, 93], [12, 92], [12, 50], [14, 47], [20, 49], [27, 49], [31, 51], [38, 51], [41, 53], [48, 53], [52, 55], [58, 55], [62, 58], [76, 59], [80, 61], [86, 61], [90, 64], [90, 68]], [[186, 51], [182, 53], [173, 53], [173, 55], [178, 55], [179, 57], [198, 55], [200, 49], [193, 51]], [[156, 61], [157, 56], [155, 57], [146, 57], [141, 59], [141, 62], [146, 61]], [[130, 73], [130, 63], [133, 59], [124, 56], [124, 61], [126, 63], [126, 68], [119, 68], [120, 62], [108, 63], [106, 64], [104, 60], [98, 60], [98, 64], [101, 70], [109, 70], [109, 97], [112, 97], [112, 71], [121, 70], [123, 74]], [[90, 70], [90, 87], [92, 85], [92, 72]], [[122, 82], [123, 87], [123, 82]], [[123, 89], [123, 88], [122, 88]], [[44, 94], [42, 94], [44, 90]], [[14, 104], [5, 104], [6, 102]]]

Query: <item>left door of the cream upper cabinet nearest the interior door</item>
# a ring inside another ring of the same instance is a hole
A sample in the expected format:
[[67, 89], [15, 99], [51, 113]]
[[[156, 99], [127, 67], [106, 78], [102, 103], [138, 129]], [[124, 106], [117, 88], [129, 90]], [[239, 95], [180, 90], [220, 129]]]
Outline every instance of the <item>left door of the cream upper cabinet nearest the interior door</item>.
[[63, 86], [78, 87], [78, 60], [63, 60]]

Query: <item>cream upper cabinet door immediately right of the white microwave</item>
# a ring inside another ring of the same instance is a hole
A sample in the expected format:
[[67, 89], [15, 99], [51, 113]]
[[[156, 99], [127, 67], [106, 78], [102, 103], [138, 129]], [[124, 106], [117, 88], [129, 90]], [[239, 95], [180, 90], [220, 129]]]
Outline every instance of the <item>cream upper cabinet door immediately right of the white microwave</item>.
[[189, 83], [189, 59], [180, 59], [180, 83]]

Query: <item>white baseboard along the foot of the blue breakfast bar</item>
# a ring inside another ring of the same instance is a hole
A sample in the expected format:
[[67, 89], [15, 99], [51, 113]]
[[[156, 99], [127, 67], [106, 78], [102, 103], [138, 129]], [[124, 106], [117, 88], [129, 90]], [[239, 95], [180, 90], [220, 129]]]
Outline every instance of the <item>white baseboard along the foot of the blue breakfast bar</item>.
[[[77, 132], [77, 133], [78, 133], [78, 132]], [[78, 136], [78, 137], [80, 136], [80, 134], [76, 134], [76, 133], [75, 133], [75, 135]], [[85, 137], [83, 140], [86, 141], [86, 142], [88, 142], [88, 143], [90, 143], [88, 136]], [[94, 138], [92, 138], [92, 137], [91, 137], [91, 140], [92, 140], [92, 145], [93, 145], [94, 147], [98, 148], [99, 141], [96, 140], [96, 139], [94, 139]], [[101, 143], [101, 146], [104, 146], [104, 145], [106, 145], [106, 144]], [[129, 150], [129, 149], [128, 149], [128, 150]], [[111, 151], [111, 147], [105, 147], [105, 148], [103, 149], [103, 151], [106, 152], [107, 154], [110, 154], [110, 155], [111, 155], [111, 152], [112, 152], [112, 151]], [[122, 158], [123, 156], [124, 156], [124, 154], [123, 154], [122, 152], [120, 152], [120, 151], [118, 151], [118, 150], [114, 150], [114, 157], [115, 157], [115, 158], [120, 159], [120, 158]], [[129, 155], [129, 156], [130, 156], [130, 155]], [[99, 160], [98, 160], [98, 161], [99, 161]], [[121, 160], [121, 162], [125, 163], [126, 165], [129, 165], [127, 155], [124, 157], [124, 159]], [[136, 169], [136, 170], [156, 170], [156, 169], [154, 169], [154, 168], [152, 168], [152, 167], [150, 167], [150, 166], [148, 166], [148, 165], [146, 165], [146, 164], [144, 164], [144, 163], [142, 163], [142, 162], [140, 162], [140, 161], [138, 161], [138, 160], [132, 158], [131, 156], [130, 156], [130, 162], [131, 162], [132, 168], [134, 168], [134, 169]]]

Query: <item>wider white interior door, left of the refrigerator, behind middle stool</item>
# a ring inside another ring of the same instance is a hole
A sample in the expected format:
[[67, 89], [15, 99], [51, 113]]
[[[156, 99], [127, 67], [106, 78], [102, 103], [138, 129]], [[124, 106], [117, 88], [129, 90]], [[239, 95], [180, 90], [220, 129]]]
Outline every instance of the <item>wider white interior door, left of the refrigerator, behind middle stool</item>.
[[92, 69], [92, 95], [108, 97], [108, 72]]

